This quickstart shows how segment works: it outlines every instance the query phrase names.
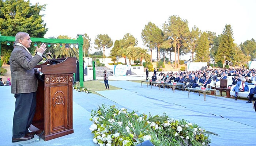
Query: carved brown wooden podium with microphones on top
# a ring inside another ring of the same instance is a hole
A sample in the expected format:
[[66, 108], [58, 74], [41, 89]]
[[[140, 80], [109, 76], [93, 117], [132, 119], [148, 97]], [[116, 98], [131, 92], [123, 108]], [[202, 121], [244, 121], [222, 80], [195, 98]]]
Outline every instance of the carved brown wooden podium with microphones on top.
[[[73, 73], [76, 58], [59, 58], [56, 64], [37, 65], [37, 106], [30, 130], [44, 141], [74, 133], [73, 130]], [[44, 132], [43, 132], [44, 131]]]

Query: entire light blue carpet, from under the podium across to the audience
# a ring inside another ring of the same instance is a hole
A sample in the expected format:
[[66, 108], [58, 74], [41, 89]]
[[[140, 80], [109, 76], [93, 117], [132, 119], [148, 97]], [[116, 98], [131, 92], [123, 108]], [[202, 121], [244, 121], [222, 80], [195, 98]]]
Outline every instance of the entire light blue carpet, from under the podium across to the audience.
[[[121, 88], [120, 90], [98, 91], [99, 95], [73, 91], [73, 128], [74, 133], [52, 139], [40, 140], [38, 136], [25, 141], [12, 143], [12, 118], [15, 108], [15, 98], [11, 94], [11, 87], [0, 87], [0, 145], [76, 145], [92, 146], [93, 134], [89, 130], [91, 125], [90, 113], [101, 104], [116, 105], [119, 108], [127, 108], [129, 111], [138, 110], [139, 113], [162, 115], [166, 113], [170, 118], [185, 119], [215, 132], [220, 136], [211, 136], [210, 145], [221, 146], [248, 146], [255, 144], [256, 112], [252, 104], [244, 100], [206, 96], [187, 91], [171, 91], [170, 89], [152, 87], [146, 84], [131, 81], [109, 81], [109, 84]], [[103, 85], [103, 84], [102, 84]]]

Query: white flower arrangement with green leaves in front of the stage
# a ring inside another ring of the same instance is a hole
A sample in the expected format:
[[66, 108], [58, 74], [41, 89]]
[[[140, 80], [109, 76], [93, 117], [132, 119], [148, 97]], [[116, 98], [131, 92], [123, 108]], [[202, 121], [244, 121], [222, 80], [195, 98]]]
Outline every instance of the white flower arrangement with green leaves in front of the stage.
[[104, 104], [92, 110], [90, 120], [93, 124], [89, 129], [94, 134], [93, 142], [100, 146], [131, 146], [146, 140], [166, 146], [208, 145], [211, 142], [208, 135], [217, 135], [184, 119], [170, 119], [165, 114], [137, 115], [136, 112]]

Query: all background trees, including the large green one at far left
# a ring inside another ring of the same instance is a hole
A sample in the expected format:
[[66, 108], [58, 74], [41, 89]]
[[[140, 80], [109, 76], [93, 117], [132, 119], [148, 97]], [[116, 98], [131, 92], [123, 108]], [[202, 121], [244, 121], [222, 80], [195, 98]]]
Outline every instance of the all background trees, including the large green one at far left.
[[[40, 11], [45, 10], [46, 5], [31, 5], [24, 0], [1, 0], [0, 1], [0, 30], [5, 36], [15, 36], [19, 31], [30, 34], [30, 37], [44, 37], [48, 28], [42, 20], [43, 15]], [[54, 37], [51, 37], [54, 38]], [[57, 39], [71, 39], [68, 36], [60, 35]], [[85, 33], [83, 36], [83, 57], [89, 57], [90, 48], [93, 46], [90, 37]], [[233, 62], [233, 65], [242, 66], [248, 61], [252, 61], [256, 56], [256, 42], [252, 38], [240, 45], [234, 43], [233, 30], [230, 24], [226, 24], [222, 34], [216, 35], [215, 32], [201, 31], [194, 26], [189, 30], [188, 21], [173, 15], [168, 21], [159, 28], [152, 22], [148, 22], [141, 32], [143, 45], [147, 49], [137, 47], [138, 41], [132, 34], [125, 34], [120, 40], [113, 40], [108, 34], [99, 34], [94, 39], [94, 48], [105, 50], [111, 48], [110, 58], [116, 61], [123, 57], [125, 63], [131, 60], [142, 60], [152, 62], [152, 51], [157, 52], [157, 61], [162, 58], [171, 61], [171, 54], [174, 53], [174, 68], [180, 64], [181, 55], [191, 53], [190, 61], [210, 62], [214, 59], [216, 63], [223, 63], [224, 60]], [[57, 57], [78, 57], [78, 49], [75, 46], [60, 44], [49, 46], [49, 51]], [[13, 46], [7, 46], [6, 42], [1, 43], [1, 59], [8, 61]], [[33, 53], [34, 47], [30, 48]], [[148, 54], [148, 51], [150, 54]], [[169, 55], [169, 57], [167, 57]]]

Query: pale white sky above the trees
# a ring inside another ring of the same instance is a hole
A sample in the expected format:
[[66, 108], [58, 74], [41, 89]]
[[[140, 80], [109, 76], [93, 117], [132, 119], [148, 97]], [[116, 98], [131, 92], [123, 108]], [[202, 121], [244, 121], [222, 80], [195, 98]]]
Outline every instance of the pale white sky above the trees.
[[[87, 34], [94, 43], [98, 34], [108, 34], [113, 40], [130, 33], [143, 45], [141, 32], [148, 22], [162, 29], [172, 15], [188, 20], [191, 30], [220, 35], [226, 24], [233, 29], [238, 45], [256, 39], [255, 0], [30, 0], [31, 4], [46, 4], [43, 14], [46, 23], [44, 38]], [[93, 47], [92, 51], [96, 51]], [[108, 55], [110, 49], [105, 54]], [[153, 57], [154, 58], [154, 57]], [[182, 58], [181, 58], [182, 59]]]

